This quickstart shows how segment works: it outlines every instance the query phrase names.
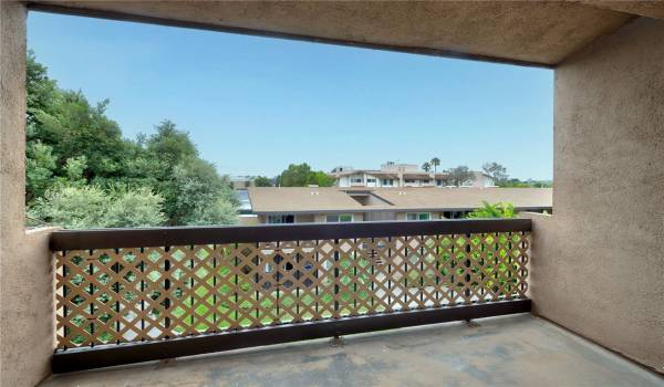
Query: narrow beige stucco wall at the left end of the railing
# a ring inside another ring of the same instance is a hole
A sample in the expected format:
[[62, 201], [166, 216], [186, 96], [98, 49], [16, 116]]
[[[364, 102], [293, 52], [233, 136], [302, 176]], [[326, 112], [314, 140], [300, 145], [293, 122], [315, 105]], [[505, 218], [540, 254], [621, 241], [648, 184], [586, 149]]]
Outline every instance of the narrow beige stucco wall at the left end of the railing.
[[25, 9], [0, 1], [0, 386], [34, 386], [53, 354], [51, 230], [25, 232]]

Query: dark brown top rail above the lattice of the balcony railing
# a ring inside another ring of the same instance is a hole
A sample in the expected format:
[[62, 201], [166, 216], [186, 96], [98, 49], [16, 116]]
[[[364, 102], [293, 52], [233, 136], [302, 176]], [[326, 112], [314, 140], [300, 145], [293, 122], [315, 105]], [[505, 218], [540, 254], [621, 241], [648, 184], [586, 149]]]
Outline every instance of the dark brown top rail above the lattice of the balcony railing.
[[191, 244], [304, 241], [342, 238], [436, 236], [531, 230], [530, 219], [459, 219], [218, 227], [62, 230], [51, 236], [52, 251]]

